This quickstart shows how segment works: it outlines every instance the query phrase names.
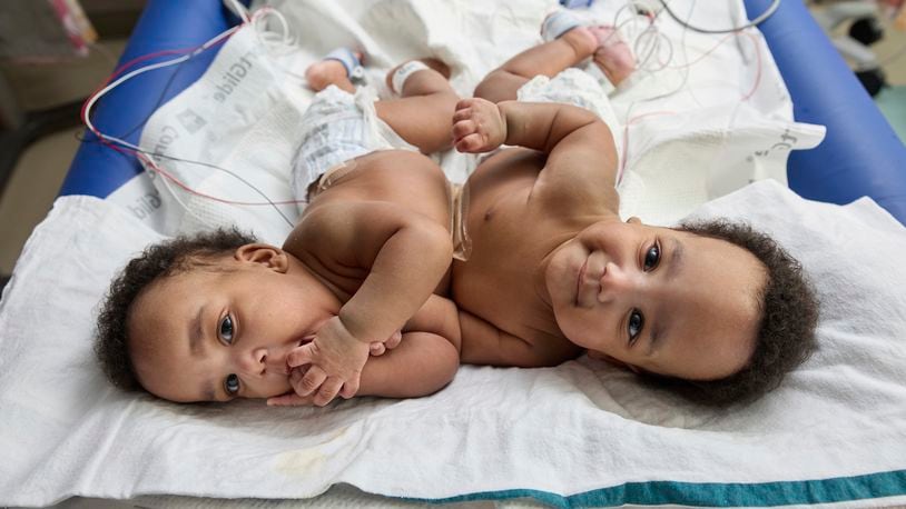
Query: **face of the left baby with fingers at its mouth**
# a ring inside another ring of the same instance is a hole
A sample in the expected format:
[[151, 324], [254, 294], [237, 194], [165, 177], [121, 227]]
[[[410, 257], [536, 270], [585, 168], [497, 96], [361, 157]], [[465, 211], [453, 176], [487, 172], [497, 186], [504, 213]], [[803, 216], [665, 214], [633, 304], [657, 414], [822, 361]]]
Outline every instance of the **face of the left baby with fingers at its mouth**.
[[216, 270], [191, 269], [139, 296], [128, 327], [142, 387], [179, 402], [289, 391], [287, 353], [339, 306], [297, 261], [273, 255], [225, 256]]

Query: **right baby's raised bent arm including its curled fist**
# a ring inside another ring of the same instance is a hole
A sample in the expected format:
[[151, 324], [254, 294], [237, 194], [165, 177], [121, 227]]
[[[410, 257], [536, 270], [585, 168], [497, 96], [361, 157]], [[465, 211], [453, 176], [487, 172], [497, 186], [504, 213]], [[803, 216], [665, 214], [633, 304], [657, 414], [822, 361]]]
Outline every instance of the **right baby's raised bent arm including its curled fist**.
[[453, 116], [461, 152], [489, 152], [501, 144], [548, 154], [536, 186], [554, 200], [617, 203], [617, 151], [610, 129], [594, 113], [554, 102], [464, 99]]

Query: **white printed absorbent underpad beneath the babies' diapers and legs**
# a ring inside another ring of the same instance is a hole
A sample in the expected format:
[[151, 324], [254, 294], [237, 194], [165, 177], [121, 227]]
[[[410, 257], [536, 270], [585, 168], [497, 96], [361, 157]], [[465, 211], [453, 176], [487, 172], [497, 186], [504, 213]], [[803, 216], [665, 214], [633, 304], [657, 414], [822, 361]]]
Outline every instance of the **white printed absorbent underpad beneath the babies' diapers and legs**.
[[[302, 139], [301, 118], [313, 97], [303, 74], [333, 48], [366, 53], [362, 86], [378, 96], [388, 97], [384, 74], [394, 64], [435, 57], [451, 67], [453, 88], [469, 97], [485, 73], [541, 42], [539, 27], [557, 6], [552, 0], [528, 0], [518, 8], [479, 0], [255, 4], [276, 9], [289, 31], [283, 31], [275, 16], [237, 31], [201, 79], [159, 108], [142, 131], [142, 147], [204, 163], [158, 161], [206, 196], [186, 192], [166, 178], [152, 184], [142, 178], [109, 197], [130, 203], [136, 186], [159, 193], [164, 206], [146, 218], [158, 231], [236, 223], [273, 243], [283, 241], [304, 207], [288, 203], [295, 198], [289, 172]], [[746, 22], [738, 0], [671, 4], [686, 13], [695, 7], [690, 20], [698, 24]], [[644, 34], [646, 19], [629, 16], [624, 6], [600, 1], [575, 11], [587, 23], [616, 23], [621, 37], [643, 53], [637, 56], [642, 68], [610, 97], [622, 124], [616, 137], [624, 154], [618, 187], [621, 216], [667, 224], [751, 181], [786, 183], [790, 151], [816, 146], [825, 131], [792, 121], [789, 96], [760, 33], [701, 34], [662, 14], [658, 34]], [[649, 57], [652, 37], [661, 42]], [[457, 182], [474, 168], [471, 156], [455, 151], [441, 154], [440, 161]], [[211, 196], [258, 204], [225, 203]], [[268, 206], [268, 200], [279, 204]]]

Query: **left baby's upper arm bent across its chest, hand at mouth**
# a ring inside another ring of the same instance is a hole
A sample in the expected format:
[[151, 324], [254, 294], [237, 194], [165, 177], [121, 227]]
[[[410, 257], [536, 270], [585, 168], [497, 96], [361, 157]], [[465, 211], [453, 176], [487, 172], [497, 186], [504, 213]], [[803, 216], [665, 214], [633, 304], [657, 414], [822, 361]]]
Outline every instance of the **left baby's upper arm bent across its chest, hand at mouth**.
[[315, 272], [367, 272], [339, 315], [288, 356], [290, 367], [311, 365], [299, 396], [314, 393], [323, 406], [358, 391], [368, 345], [391, 337], [424, 305], [451, 263], [452, 244], [444, 227], [386, 202], [317, 207], [294, 233], [293, 251]]

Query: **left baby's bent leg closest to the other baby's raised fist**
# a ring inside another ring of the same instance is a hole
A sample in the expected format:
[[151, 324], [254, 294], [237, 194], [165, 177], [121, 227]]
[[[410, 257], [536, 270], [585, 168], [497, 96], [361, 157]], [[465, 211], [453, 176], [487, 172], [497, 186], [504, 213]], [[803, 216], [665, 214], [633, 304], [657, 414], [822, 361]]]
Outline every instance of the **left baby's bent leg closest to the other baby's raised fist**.
[[[460, 97], [450, 87], [450, 69], [445, 63], [436, 59], [416, 62], [422, 62], [427, 68], [408, 73], [402, 82], [400, 79], [395, 80], [401, 88], [394, 90], [400, 99], [377, 101], [377, 116], [423, 153], [446, 150], [452, 143], [450, 119], [453, 118]], [[401, 70], [405, 72], [407, 64], [412, 63], [400, 64], [387, 73], [387, 84], [392, 90], [395, 88], [394, 76]]]

